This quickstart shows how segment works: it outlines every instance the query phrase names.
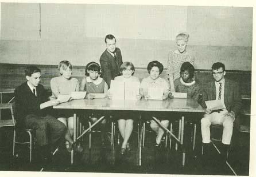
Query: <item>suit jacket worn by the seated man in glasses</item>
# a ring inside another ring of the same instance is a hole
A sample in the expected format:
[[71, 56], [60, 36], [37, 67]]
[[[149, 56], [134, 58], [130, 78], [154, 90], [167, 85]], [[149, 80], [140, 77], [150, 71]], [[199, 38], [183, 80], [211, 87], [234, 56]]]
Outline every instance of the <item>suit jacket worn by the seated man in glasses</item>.
[[[207, 108], [205, 101], [215, 100], [215, 99], [216, 99], [215, 81], [208, 82], [203, 88], [202, 106], [204, 108]], [[242, 98], [239, 90], [239, 85], [238, 83], [226, 78], [225, 78], [225, 86], [224, 86], [224, 103], [228, 112], [234, 111], [235, 115], [238, 115], [241, 112]]]

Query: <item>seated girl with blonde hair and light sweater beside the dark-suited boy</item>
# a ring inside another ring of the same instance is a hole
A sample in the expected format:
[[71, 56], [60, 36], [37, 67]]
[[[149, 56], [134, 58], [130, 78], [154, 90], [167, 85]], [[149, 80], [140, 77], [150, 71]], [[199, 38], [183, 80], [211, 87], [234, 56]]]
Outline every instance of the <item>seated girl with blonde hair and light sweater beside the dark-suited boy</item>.
[[[61, 61], [58, 69], [60, 76], [51, 79], [52, 97], [58, 98], [59, 95], [71, 94], [72, 91], [79, 91], [79, 82], [76, 78], [72, 78], [72, 65], [68, 61]], [[73, 114], [70, 111], [58, 111], [58, 120], [67, 126], [65, 134], [66, 147], [69, 148], [69, 143], [73, 144]], [[69, 149], [70, 150], [70, 149]]]

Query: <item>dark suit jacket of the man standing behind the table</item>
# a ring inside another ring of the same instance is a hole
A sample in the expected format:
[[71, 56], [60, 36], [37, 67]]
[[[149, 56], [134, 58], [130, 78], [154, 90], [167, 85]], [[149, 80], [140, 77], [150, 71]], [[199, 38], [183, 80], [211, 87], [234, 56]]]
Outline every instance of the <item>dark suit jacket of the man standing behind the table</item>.
[[107, 49], [100, 56], [99, 62], [102, 67], [101, 77], [107, 83], [108, 88], [110, 88], [110, 80], [114, 80], [115, 77], [120, 75], [120, 66], [123, 63], [121, 50], [119, 48], [115, 48], [115, 54], [117, 55], [117, 63], [115, 62], [115, 58], [111, 55]]

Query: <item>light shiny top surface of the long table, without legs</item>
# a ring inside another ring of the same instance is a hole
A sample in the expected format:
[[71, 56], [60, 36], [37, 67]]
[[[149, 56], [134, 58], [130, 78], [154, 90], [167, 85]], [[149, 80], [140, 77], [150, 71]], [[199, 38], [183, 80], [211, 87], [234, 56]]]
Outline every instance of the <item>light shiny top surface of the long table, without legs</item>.
[[53, 106], [53, 108], [76, 110], [204, 112], [203, 108], [195, 100], [180, 98], [168, 98], [166, 100], [76, 99]]

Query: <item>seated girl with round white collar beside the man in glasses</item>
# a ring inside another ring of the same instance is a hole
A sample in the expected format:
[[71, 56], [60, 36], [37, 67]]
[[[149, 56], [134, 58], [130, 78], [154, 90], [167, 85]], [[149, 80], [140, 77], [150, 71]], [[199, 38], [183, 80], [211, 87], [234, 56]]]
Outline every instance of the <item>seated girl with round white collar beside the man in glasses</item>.
[[[176, 92], [187, 93], [187, 98], [199, 99], [200, 86], [193, 79], [195, 68], [191, 63], [184, 62], [180, 68], [180, 78], [174, 81], [174, 88]], [[172, 96], [170, 96], [172, 97]]]

